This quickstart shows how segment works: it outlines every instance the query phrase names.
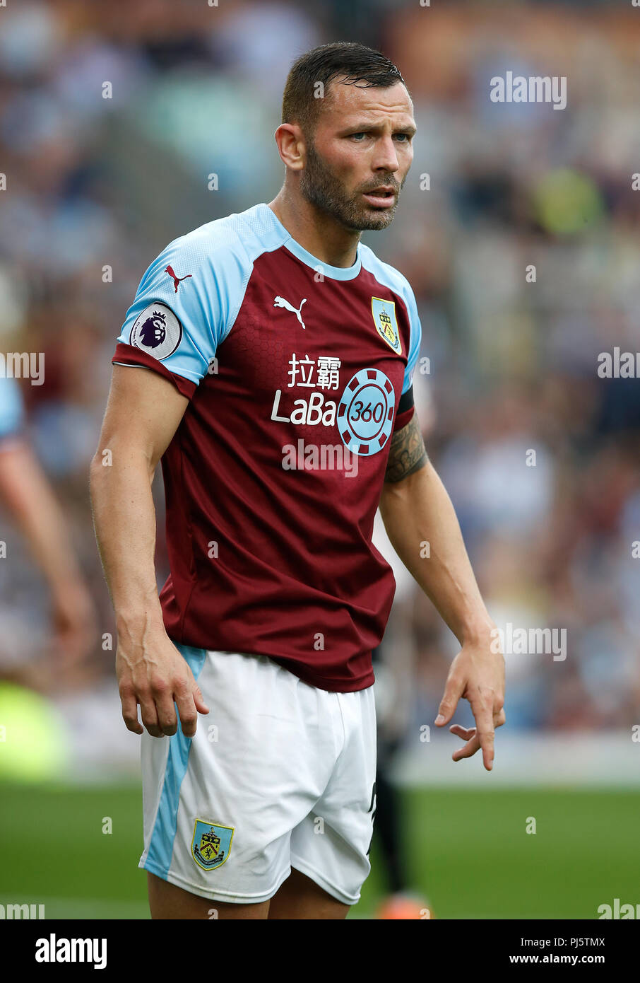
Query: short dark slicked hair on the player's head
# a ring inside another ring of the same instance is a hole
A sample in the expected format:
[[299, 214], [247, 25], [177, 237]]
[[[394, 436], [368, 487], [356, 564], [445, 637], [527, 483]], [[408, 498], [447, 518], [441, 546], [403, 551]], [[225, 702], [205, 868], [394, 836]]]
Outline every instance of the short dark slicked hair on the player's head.
[[312, 48], [293, 63], [283, 94], [283, 123], [297, 123], [305, 136], [313, 133], [323, 101], [315, 94], [319, 82], [325, 98], [332, 82], [380, 88], [401, 82], [406, 86], [394, 63], [365, 44], [335, 41]]

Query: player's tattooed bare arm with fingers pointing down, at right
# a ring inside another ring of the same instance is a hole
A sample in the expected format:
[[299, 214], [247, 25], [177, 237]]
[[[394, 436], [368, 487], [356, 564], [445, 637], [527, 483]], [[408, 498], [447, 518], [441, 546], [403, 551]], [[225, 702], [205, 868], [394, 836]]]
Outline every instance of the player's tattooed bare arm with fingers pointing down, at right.
[[501, 653], [492, 651], [494, 622], [473, 575], [451, 498], [427, 457], [415, 414], [393, 437], [380, 512], [400, 559], [461, 646], [436, 723], [448, 723], [460, 696], [468, 699], [477, 733], [475, 728], [452, 728], [467, 741], [453, 759], [468, 757], [482, 746], [485, 768], [490, 770], [494, 723], [504, 723], [505, 663]]

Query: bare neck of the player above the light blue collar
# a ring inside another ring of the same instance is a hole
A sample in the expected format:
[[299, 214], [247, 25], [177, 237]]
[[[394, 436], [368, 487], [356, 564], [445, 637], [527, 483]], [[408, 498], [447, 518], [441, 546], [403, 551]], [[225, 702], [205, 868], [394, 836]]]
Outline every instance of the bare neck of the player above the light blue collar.
[[269, 207], [302, 249], [330, 266], [352, 266], [360, 233], [346, 229], [335, 218], [283, 188]]

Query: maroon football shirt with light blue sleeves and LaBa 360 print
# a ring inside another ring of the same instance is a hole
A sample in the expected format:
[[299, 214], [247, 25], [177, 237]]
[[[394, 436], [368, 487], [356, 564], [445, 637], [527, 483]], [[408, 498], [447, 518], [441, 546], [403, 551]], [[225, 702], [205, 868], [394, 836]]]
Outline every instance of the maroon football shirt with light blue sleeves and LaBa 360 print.
[[162, 457], [170, 638], [321, 689], [373, 683], [395, 581], [371, 534], [419, 346], [393, 266], [361, 243], [352, 266], [323, 263], [266, 204], [151, 263], [113, 362], [189, 400]]

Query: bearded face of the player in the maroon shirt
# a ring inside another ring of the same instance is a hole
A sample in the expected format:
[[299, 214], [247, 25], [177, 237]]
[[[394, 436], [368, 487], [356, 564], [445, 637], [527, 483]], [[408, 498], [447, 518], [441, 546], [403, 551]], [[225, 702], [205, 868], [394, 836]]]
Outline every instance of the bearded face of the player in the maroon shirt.
[[415, 133], [406, 88], [332, 83], [306, 144], [300, 192], [348, 229], [385, 229], [411, 166]]

